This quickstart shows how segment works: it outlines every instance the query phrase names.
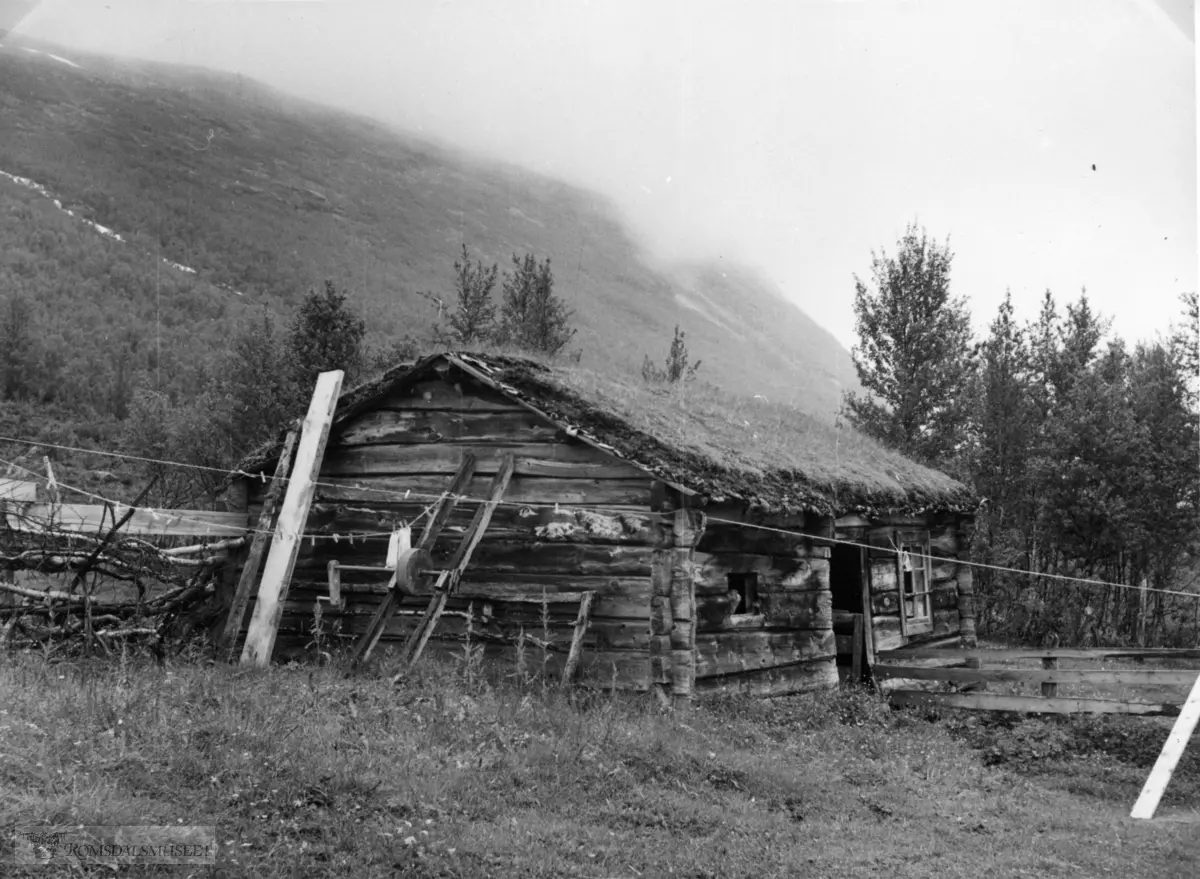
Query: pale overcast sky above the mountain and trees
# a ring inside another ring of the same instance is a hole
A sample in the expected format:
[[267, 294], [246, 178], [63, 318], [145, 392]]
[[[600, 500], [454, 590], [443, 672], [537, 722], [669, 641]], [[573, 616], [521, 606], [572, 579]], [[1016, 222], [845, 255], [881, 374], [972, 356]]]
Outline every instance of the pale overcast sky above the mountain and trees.
[[[46, 0], [18, 30], [238, 71], [614, 198], [847, 346], [916, 219], [983, 328], [1082, 287], [1130, 340], [1196, 288], [1189, 0]], [[1094, 166], [1094, 169], [1093, 169]], [[553, 256], [553, 255], [551, 255]]]

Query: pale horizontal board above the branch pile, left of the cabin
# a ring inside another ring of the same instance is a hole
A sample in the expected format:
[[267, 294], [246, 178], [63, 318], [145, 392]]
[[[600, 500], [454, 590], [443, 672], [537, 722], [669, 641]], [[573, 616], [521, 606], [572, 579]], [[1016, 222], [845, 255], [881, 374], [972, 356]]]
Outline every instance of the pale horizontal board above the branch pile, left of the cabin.
[[[13, 531], [41, 533], [47, 528], [94, 534], [108, 531], [128, 513], [125, 504], [112, 509], [92, 503], [30, 503], [20, 510], [0, 510]], [[115, 514], [115, 519], [113, 518]], [[240, 537], [250, 519], [245, 513], [203, 509], [136, 509], [119, 534], [138, 537]]]

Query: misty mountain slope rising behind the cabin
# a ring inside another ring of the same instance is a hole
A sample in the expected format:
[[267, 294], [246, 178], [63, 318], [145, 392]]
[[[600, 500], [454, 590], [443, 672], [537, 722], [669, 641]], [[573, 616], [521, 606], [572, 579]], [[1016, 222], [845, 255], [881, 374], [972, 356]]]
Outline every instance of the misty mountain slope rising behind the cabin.
[[829, 415], [854, 385], [773, 285], [725, 261], [656, 265], [602, 196], [236, 76], [10, 35], [0, 116], [0, 293], [31, 294], [54, 357], [90, 382], [186, 393], [256, 306], [283, 313], [324, 279], [376, 343], [420, 334], [436, 311], [419, 292], [452, 297], [464, 243], [502, 269], [553, 261], [586, 366], [636, 371], [678, 323], [727, 390]]

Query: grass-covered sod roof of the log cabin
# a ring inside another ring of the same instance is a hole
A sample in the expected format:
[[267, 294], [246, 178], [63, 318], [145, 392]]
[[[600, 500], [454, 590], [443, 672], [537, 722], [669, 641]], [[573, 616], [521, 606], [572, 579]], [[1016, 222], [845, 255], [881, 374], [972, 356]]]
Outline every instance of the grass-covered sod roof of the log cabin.
[[[341, 396], [335, 432], [382, 397], [443, 375], [499, 390], [570, 435], [718, 503], [838, 515], [974, 506], [967, 488], [944, 473], [793, 406], [511, 355], [439, 353], [391, 369]], [[265, 470], [277, 454], [278, 443], [239, 470]]]

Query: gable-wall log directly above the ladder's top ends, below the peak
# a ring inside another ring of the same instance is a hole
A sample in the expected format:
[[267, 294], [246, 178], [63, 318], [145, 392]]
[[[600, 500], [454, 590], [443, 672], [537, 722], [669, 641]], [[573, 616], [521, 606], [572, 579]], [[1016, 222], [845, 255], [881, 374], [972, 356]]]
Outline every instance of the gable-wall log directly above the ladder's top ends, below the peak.
[[378, 443], [552, 443], [566, 436], [553, 421], [524, 408], [500, 412], [371, 409], [337, 426], [330, 446]]

